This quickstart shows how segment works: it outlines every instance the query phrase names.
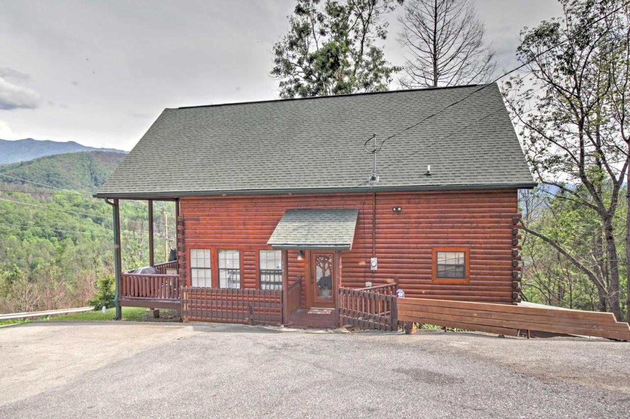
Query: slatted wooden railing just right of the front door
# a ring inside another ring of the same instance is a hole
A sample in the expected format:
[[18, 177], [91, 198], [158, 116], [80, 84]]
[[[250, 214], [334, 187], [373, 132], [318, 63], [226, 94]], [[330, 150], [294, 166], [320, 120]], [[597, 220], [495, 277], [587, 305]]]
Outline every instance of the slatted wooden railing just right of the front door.
[[337, 310], [341, 325], [363, 329], [398, 330], [397, 298], [396, 295], [387, 294], [391, 286], [395, 287], [396, 284], [369, 287], [371, 288], [369, 291], [340, 288]]

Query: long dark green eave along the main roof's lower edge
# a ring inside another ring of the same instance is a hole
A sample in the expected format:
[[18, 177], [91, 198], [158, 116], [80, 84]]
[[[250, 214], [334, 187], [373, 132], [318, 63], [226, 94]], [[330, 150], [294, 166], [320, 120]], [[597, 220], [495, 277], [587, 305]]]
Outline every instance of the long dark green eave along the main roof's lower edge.
[[309, 193], [362, 193], [362, 192], [407, 192], [407, 191], [450, 191], [471, 189], [532, 189], [537, 182], [511, 184], [474, 184], [474, 185], [428, 185], [428, 186], [384, 186], [384, 187], [329, 187], [312, 189], [243, 189], [232, 191], [176, 191], [146, 193], [96, 193], [94, 198], [152, 199], [179, 198], [180, 196], [206, 195], [260, 195], [260, 194], [309, 194]]

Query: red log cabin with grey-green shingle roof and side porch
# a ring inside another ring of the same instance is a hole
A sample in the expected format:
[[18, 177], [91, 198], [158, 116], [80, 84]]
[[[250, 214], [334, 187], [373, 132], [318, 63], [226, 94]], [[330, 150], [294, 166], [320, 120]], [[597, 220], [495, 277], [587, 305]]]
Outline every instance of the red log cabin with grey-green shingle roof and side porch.
[[[496, 84], [164, 109], [95, 194], [120, 306], [185, 320], [335, 327], [340, 289], [519, 301], [518, 189], [536, 184]], [[144, 200], [154, 274], [121, 271]], [[175, 201], [154, 264], [152, 203]]]

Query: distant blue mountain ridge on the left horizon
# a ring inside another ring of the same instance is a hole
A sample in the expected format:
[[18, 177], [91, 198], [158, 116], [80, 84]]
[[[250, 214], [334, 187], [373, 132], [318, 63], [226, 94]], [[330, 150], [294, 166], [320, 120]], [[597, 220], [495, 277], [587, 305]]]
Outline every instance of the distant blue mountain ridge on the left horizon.
[[127, 153], [124, 150], [115, 148], [88, 147], [74, 141], [57, 142], [33, 140], [33, 138], [13, 141], [0, 139], [0, 164], [25, 162], [26, 160], [37, 159], [46, 155], [90, 151]]

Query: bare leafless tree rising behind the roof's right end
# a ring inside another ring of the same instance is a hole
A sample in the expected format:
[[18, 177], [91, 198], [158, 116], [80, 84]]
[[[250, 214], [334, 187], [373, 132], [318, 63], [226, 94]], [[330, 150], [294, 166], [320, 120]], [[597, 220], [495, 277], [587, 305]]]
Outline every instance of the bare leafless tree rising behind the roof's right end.
[[408, 55], [403, 87], [457, 86], [488, 81], [495, 52], [469, 0], [411, 0], [399, 17], [398, 41]]

